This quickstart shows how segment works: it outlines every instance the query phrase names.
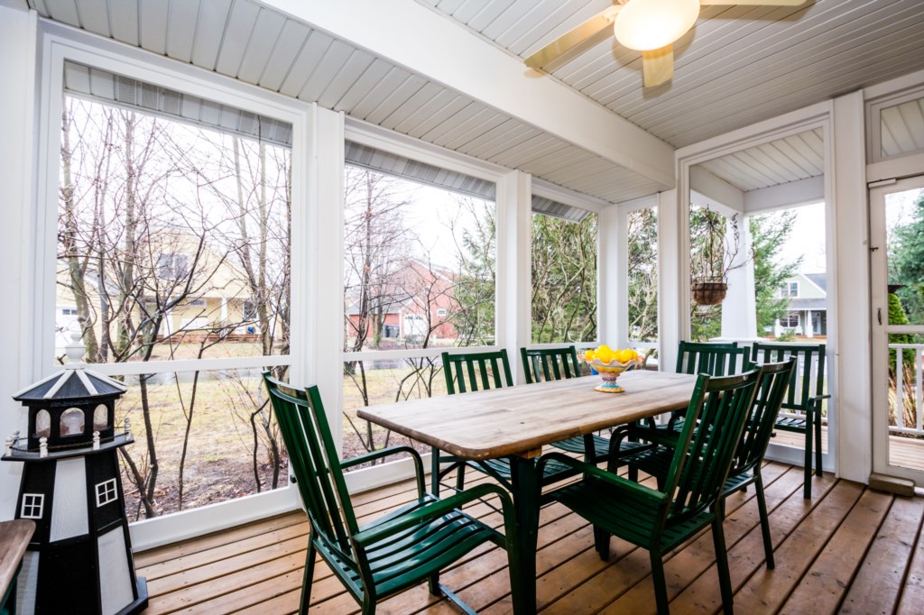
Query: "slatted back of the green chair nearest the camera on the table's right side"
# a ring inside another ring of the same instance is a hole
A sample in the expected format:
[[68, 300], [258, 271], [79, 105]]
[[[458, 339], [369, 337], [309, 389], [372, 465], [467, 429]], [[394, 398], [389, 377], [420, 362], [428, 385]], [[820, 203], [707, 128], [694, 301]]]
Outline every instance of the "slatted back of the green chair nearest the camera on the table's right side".
[[760, 369], [699, 376], [665, 481], [664, 493], [675, 494], [669, 516], [703, 513], [719, 499], [760, 378]]

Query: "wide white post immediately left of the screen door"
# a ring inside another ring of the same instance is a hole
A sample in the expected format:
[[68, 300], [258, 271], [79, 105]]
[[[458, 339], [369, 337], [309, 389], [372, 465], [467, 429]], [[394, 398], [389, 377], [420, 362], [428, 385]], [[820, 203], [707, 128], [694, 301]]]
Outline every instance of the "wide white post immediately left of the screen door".
[[[868, 191], [863, 92], [835, 98], [825, 175], [831, 181], [828, 223], [828, 390], [834, 392], [837, 476], [866, 482], [872, 471], [872, 382], [869, 371]], [[836, 156], [834, 152], [836, 151]], [[836, 207], [835, 207], [836, 204]], [[858, 223], [864, 221], [863, 223]], [[833, 313], [832, 313], [833, 312]]]

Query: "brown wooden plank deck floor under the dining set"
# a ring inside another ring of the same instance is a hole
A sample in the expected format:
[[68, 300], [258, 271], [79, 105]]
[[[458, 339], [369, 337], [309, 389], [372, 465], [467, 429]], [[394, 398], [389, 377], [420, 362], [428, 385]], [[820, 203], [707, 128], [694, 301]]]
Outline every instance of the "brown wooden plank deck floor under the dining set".
[[[802, 499], [802, 470], [767, 464], [776, 569], [763, 565], [753, 490], [728, 500], [725, 539], [740, 613], [921, 613], [924, 610], [924, 499], [899, 498], [833, 476], [816, 477]], [[362, 518], [412, 497], [410, 483], [360, 494]], [[497, 525], [485, 506], [470, 513]], [[361, 520], [360, 520], [361, 523]], [[292, 513], [136, 555], [148, 579], [146, 613], [288, 613], [298, 609], [308, 525]], [[645, 551], [613, 539], [610, 561], [593, 549], [590, 526], [553, 504], [542, 510], [537, 558], [542, 613], [653, 613]], [[673, 613], [721, 609], [711, 536], [665, 557]], [[505, 553], [478, 549], [442, 581], [484, 613], [511, 610]], [[356, 604], [325, 565], [315, 568], [312, 613], [352, 613]], [[381, 613], [455, 613], [426, 585], [384, 601]]]

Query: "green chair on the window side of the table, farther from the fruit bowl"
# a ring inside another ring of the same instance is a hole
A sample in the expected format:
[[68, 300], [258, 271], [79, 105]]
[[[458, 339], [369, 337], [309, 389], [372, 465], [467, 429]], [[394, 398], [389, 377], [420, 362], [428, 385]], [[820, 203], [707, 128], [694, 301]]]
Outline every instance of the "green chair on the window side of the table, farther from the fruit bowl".
[[[443, 370], [446, 379], [446, 391], [450, 395], [464, 392], [499, 389], [513, 386], [510, 375], [510, 363], [507, 360], [505, 348], [488, 353], [443, 353]], [[581, 449], [583, 452], [583, 448]], [[466, 461], [458, 457], [445, 454], [433, 447], [432, 450], [431, 490], [433, 495], [439, 495], [443, 478], [456, 470], [456, 491], [465, 488], [465, 471], [467, 467], [492, 476], [508, 490], [513, 490], [512, 471], [510, 460], [486, 459], [484, 461]], [[447, 464], [448, 465], [445, 465]], [[577, 476], [577, 471], [561, 464], [550, 464], [541, 476], [541, 485], [547, 485], [568, 476]]]

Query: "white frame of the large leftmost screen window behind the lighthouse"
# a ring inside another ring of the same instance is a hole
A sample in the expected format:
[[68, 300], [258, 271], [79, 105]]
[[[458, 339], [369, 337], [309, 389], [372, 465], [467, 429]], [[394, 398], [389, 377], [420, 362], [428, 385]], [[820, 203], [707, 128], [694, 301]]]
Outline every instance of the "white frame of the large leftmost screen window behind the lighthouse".
[[[60, 117], [63, 96], [65, 61], [136, 78], [172, 90], [188, 92], [206, 100], [220, 100], [244, 111], [266, 115], [290, 123], [292, 136], [292, 275], [291, 295], [293, 313], [306, 313], [307, 307], [316, 305], [318, 291], [311, 281], [317, 278], [316, 264], [309, 264], [309, 247], [316, 243], [320, 232], [312, 231], [312, 219], [318, 217], [319, 189], [316, 140], [313, 133], [318, 126], [318, 109], [314, 104], [302, 103], [285, 96], [224, 78], [195, 66], [181, 65], [164, 57], [114, 41], [103, 40], [86, 32], [72, 30], [53, 22], [40, 25], [42, 58], [39, 76], [39, 139], [38, 186], [33, 228], [35, 252], [31, 255], [31, 271], [36, 309], [28, 317], [31, 336], [31, 380], [57, 370], [52, 364], [54, 356], [55, 322], [55, 252], [57, 224], [57, 190], [60, 152]], [[235, 368], [264, 368], [289, 366], [290, 380], [304, 383], [316, 381], [315, 347], [316, 322], [310, 319], [293, 321], [291, 326], [290, 354], [288, 356], [253, 356], [244, 358], [215, 358], [200, 361], [151, 361], [144, 364], [112, 364], [94, 366], [108, 375], [132, 376], [141, 373], [186, 372], [196, 370], [225, 370]], [[319, 351], [319, 353], [322, 351]], [[28, 376], [28, 374], [27, 374]], [[146, 549], [212, 532], [223, 527], [246, 523], [298, 507], [297, 489], [291, 485], [246, 498], [230, 500], [198, 509], [143, 520], [131, 525], [132, 542], [136, 549]]]

